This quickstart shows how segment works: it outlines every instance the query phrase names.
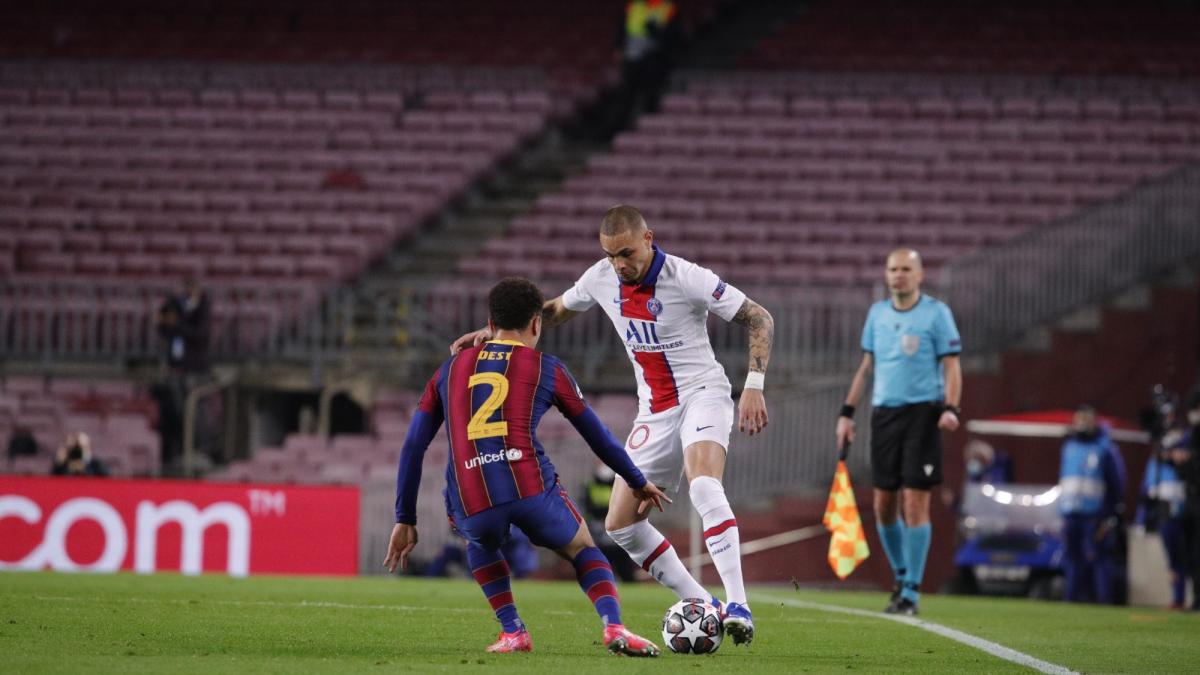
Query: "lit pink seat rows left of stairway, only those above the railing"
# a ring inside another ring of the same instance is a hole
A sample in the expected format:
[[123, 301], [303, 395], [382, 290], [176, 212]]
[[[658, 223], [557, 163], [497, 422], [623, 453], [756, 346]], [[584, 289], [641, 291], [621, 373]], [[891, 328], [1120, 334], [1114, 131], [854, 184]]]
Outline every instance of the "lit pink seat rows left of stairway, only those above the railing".
[[158, 91], [150, 107], [126, 109], [84, 103], [80, 91], [66, 106], [40, 103], [42, 91], [6, 94], [2, 227], [24, 233], [11, 267], [56, 279], [178, 276], [197, 264], [217, 280], [346, 279], [536, 132], [546, 112], [287, 106], [304, 92], [214, 108], [235, 92], [212, 90]]

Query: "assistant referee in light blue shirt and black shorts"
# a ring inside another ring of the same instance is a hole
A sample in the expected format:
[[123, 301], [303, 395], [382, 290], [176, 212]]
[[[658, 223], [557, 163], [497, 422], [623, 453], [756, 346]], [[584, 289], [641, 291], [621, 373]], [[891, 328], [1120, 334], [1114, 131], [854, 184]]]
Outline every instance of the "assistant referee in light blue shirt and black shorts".
[[[930, 490], [942, 482], [942, 435], [959, 428], [962, 351], [950, 307], [922, 294], [920, 255], [888, 256], [890, 298], [871, 305], [863, 325], [863, 363], [838, 414], [838, 447], [854, 440], [854, 406], [868, 375], [871, 396], [871, 480], [875, 526], [895, 572], [884, 611], [916, 615], [931, 527]], [[896, 498], [902, 488], [904, 513]]]

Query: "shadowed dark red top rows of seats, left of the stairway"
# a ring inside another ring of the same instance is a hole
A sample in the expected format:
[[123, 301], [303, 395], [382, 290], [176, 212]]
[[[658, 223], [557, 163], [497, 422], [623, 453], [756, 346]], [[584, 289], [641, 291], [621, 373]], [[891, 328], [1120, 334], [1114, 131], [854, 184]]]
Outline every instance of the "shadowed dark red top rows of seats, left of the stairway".
[[[682, 2], [682, 18], [703, 23], [719, 4]], [[353, 0], [334, 8], [317, 0], [252, 6], [216, 0], [126, 1], [124, 11], [86, 0], [12, 5], [0, 8], [0, 56], [535, 67], [556, 91], [582, 100], [616, 74], [613, 41], [624, 5]]]

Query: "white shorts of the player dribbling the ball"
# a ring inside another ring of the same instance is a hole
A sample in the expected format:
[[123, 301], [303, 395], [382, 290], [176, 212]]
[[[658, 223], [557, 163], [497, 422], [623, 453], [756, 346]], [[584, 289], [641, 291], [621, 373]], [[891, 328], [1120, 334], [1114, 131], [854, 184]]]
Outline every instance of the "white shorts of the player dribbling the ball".
[[683, 449], [698, 441], [712, 441], [728, 452], [732, 429], [730, 393], [702, 389], [668, 411], [638, 416], [625, 440], [625, 452], [647, 480], [673, 495], [683, 477]]

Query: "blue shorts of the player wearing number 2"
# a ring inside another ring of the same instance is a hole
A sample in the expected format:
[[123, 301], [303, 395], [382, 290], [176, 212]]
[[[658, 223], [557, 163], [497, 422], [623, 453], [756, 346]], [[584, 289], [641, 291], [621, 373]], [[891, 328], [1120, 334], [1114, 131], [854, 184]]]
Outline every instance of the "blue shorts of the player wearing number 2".
[[540, 495], [481, 510], [475, 515], [454, 513], [446, 500], [450, 525], [463, 539], [490, 551], [504, 545], [516, 525], [539, 546], [559, 550], [575, 539], [583, 516], [562, 485]]

